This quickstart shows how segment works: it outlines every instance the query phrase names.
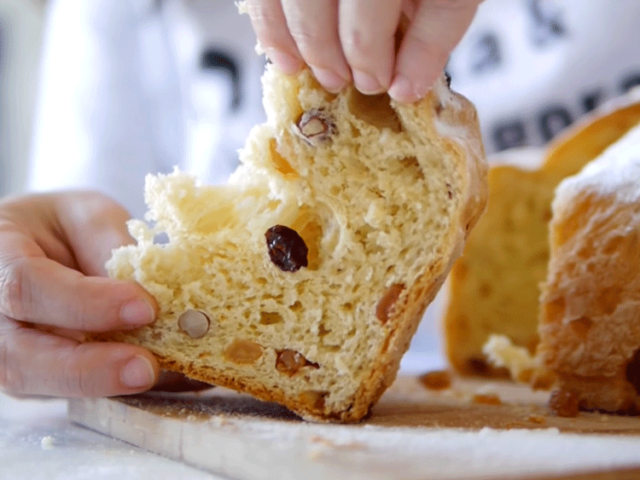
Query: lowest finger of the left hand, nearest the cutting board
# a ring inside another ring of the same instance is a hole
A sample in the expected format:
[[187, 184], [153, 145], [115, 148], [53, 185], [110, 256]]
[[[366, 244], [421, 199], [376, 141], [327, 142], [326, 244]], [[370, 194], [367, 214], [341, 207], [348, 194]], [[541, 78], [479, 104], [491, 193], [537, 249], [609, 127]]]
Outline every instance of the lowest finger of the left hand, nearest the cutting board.
[[15, 395], [104, 397], [148, 390], [158, 364], [143, 348], [85, 343], [0, 326], [0, 389]]

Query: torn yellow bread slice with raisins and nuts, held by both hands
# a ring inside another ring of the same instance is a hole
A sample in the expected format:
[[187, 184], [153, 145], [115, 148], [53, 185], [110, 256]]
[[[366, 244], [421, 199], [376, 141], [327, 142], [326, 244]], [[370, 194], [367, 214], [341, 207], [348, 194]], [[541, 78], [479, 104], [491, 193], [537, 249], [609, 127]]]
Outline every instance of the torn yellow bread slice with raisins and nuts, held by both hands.
[[484, 209], [475, 110], [444, 80], [413, 105], [331, 95], [308, 71], [268, 67], [263, 85], [268, 121], [228, 185], [147, 178], [148, 223], [130, 222], [137, 245], [108, 271], [160, 315], [102, 338], [307, 419], [357, 421]]

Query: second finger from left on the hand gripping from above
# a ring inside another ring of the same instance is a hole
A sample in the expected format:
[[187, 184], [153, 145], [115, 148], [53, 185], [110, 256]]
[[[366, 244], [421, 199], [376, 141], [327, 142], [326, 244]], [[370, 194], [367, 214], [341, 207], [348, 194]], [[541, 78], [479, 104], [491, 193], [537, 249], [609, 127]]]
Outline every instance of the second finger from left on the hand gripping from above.
[[338, 32], [338, 0], [282, 0], [291, 36], [316, 79], [330, 92], [350, 81]]

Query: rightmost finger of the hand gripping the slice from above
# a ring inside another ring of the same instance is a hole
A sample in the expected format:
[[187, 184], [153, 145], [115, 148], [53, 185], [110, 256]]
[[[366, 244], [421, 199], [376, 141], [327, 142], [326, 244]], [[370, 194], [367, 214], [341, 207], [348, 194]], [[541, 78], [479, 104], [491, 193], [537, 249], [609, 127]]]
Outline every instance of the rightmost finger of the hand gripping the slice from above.
[[404, 35], [389, 95], [411, 103], [442, 74], [449, 54], [471, 24], [478, 0], [423, 0]]

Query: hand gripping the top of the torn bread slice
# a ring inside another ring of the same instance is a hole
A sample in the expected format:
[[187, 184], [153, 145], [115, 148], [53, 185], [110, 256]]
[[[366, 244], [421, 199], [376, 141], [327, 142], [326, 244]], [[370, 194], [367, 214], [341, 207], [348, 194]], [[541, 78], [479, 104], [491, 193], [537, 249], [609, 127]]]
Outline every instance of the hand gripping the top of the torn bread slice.
[[[284, 73], [306, 63], [337, 92], [410, 103], [442, 73], [482, 0], [247, 0], [269, 59]], [[402, 34], [396, 45], [396, 32]]]

